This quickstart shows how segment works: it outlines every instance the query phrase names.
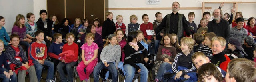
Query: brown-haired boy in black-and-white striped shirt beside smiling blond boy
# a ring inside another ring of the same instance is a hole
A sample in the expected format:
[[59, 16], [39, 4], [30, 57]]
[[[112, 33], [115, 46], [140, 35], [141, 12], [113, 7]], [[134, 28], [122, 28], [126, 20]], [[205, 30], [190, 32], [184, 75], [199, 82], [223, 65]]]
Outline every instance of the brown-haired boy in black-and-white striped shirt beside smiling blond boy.
[[213, 32], [206, 33], [204, 35], [204, 45], [198, 49], [198, 51], [203, 52], [210, 60], [212, 59], [212, 50], [211, 50], [211, 44], [212, 44], [212, 38], [216, 37], [216, 35]]

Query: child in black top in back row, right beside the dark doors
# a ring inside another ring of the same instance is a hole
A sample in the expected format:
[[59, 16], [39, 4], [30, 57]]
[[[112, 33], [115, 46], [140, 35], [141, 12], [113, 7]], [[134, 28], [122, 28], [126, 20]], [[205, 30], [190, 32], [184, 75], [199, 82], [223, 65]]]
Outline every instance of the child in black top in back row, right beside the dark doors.
[[106, 12], [107, 19], [103, 22], [102, 26], [102, 40], [106, 41], [109, 34], [113, 34], [116, 31], [116, 24], [113, 22], [113, 13]]

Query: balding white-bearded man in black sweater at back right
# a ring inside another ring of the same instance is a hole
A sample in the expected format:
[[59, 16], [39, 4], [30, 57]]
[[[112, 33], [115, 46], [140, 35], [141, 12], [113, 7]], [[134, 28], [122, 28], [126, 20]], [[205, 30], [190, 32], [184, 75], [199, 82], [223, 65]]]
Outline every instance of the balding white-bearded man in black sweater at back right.
[[230, 38], [230, 27], [227, 20], [223, 20], [223, 13], [220, 9], [215, 9], [212, 13], [214, 20], [208, 23], [208, 33], [214, 32], [216, 36], [220, 36], [226, 39], [229, 42]]

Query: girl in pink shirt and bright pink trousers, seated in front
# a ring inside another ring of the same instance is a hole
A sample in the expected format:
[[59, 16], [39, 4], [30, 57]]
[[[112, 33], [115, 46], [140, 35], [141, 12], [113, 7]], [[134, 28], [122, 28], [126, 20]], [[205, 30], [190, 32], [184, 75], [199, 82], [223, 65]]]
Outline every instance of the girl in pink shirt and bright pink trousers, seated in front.
[[[94, 37], [92, 33], [86, 34], [86, 43], [81, 46], [82, 62], [78, 64], [76, 69], [81, 81], [84, 80], [87, 82], [89, 80], [89, 76], [98, 62], [97, 54], [99, 47], [93, 42]], [[84, 72], [84, 68], [86, 68], [86, 73]]]

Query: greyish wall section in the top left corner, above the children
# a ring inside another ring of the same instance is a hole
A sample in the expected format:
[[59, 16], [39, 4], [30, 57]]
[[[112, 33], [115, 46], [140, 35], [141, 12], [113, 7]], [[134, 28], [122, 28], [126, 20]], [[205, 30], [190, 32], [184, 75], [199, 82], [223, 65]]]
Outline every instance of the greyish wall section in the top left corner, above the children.
[[33, 12], [33, 0], [0, 0], [0, 16], [5, 18], [7, 32], [12, 31], [15, 18], [18, 14], [25, 16], [28, 12]]

